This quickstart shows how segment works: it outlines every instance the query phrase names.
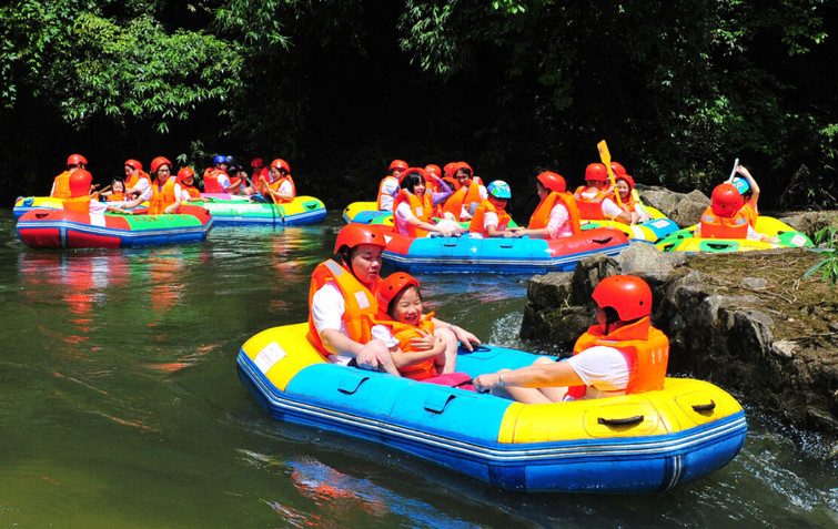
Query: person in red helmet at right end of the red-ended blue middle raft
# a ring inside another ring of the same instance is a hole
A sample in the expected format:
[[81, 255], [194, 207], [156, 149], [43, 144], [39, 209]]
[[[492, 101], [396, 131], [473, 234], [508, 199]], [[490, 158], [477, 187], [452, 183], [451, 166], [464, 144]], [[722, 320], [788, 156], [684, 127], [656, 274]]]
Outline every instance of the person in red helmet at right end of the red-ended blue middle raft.
[[541, 202], [527, 227], [515, 230], [515, 236], [559, 238], [580, 233], [579, 212], [574, 197], [565, 192], [565, 179], [553, 171], [544, 171], [536, 177], [535, 186]]

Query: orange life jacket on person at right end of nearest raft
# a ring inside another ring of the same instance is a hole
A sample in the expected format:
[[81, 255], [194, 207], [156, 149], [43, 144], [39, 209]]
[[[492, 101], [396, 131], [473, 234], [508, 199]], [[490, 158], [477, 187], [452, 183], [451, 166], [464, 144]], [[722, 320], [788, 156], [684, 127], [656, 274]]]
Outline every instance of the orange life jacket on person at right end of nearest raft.
[[[633, 358], [627, 395], [663, 389], [669, 362], [669, 338], [649, 324], [648, 316], [607, 335], [602, 325], [594, 325], [576, 340], [573, 354], [578, 355], [597, 345], [614, 347]], [[585, 387], [573, 386], [567, 395], [579, 398], [585, 395]]]

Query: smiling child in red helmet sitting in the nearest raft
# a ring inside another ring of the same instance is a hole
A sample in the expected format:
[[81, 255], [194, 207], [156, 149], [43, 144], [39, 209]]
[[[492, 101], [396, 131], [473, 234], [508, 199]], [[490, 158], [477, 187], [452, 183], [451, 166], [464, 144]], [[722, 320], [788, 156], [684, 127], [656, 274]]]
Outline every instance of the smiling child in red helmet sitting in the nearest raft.
[[457, 337], [434, 318], [424, 314], [420, 282], [410, 274], [396, 272], [384, 279], [376, 291], [378, 318], [372, 328], [373, 337], [385, 343], [397, 340], [390, 348], [393, 364], [405, 378], [443, 386], [472, 389], [465, 373], [455, 373]]

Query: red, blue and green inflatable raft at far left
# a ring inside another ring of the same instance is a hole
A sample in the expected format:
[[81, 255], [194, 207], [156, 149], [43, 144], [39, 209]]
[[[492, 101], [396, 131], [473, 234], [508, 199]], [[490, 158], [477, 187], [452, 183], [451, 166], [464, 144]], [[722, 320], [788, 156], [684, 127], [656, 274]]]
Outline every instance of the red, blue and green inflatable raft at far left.
[[18, 220], [18, 236], [34, 248], [131, 248], [201, 242], [213, 226], [209, 211], [195, 205], [176, 215], [93, 214], [33, 210]]

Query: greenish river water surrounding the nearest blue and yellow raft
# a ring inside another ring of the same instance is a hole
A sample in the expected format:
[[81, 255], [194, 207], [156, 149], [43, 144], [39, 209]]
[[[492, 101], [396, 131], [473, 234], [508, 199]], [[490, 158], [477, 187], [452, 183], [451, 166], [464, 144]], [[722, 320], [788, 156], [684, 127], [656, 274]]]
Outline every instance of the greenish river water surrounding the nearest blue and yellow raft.
[[[508, 492], [270, 418], [253, 334], [305, 318], [342, 225], [216, 227], [196, 245], [36, 251], [0, 210], [0, 527], [838, 527], [838, 465], [746, 409], [724, 469], [663, 495]], [[526, 277], [420, 276], [431, 308], [517, 348]]]

